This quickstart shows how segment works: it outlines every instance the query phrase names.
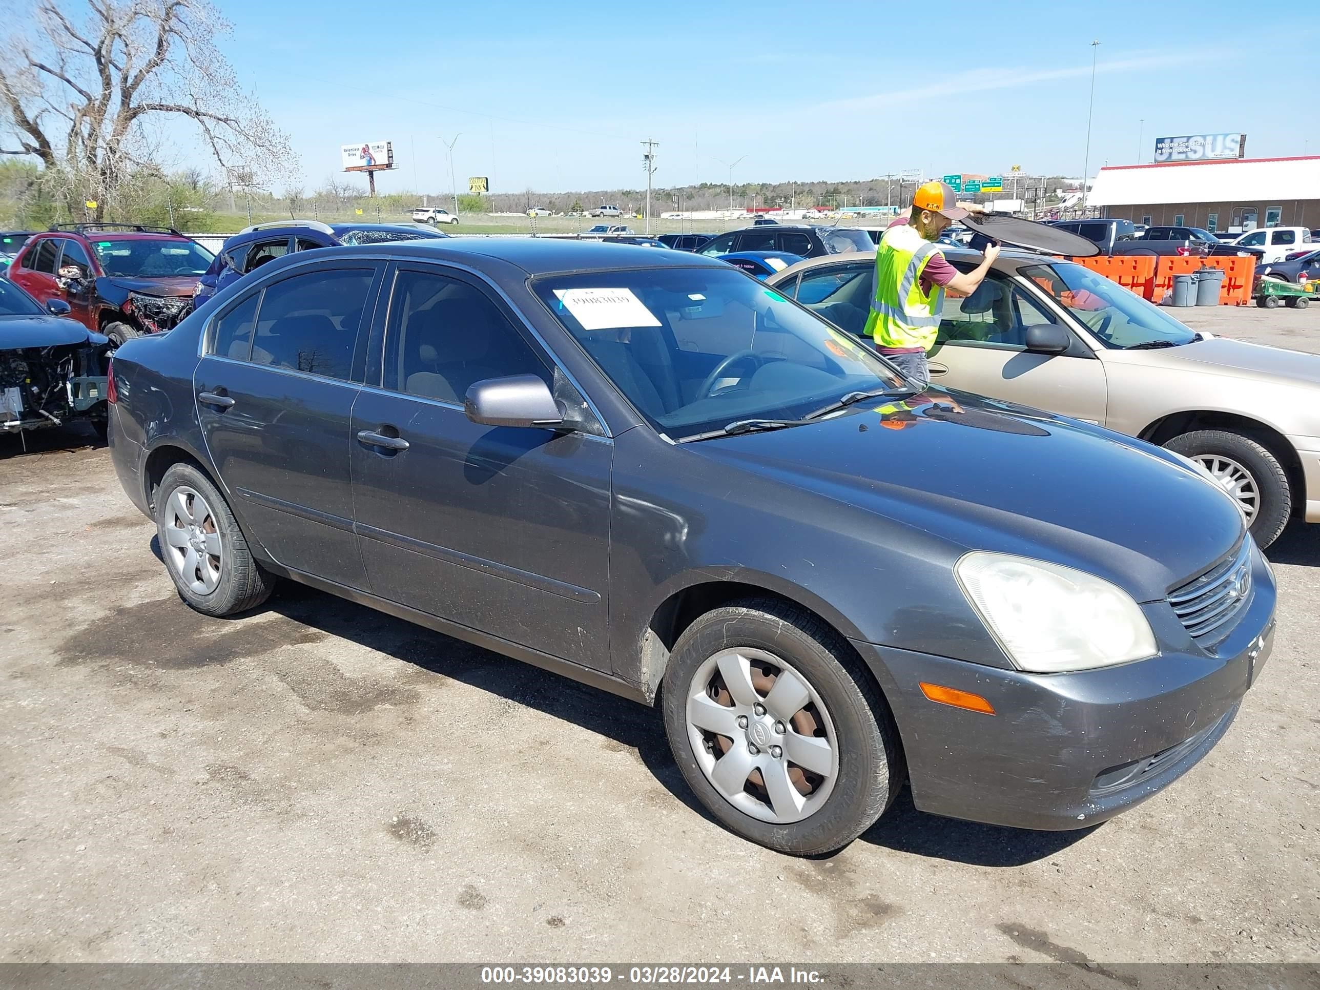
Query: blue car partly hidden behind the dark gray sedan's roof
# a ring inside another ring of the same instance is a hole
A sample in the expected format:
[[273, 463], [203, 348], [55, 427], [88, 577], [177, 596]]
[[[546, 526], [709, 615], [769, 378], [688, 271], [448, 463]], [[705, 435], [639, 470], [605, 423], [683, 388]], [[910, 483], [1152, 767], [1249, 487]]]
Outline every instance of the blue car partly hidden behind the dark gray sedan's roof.
[[319, 220], [257, 223], [224, 242], [211, 267], [193, 289], [193, 308], [197, 309], [255, 268], [294, 251], [383, 244], [389, 240], [434, 240], [447, 236], [409, 223], [321, 223]]

